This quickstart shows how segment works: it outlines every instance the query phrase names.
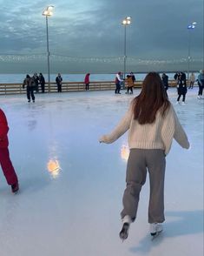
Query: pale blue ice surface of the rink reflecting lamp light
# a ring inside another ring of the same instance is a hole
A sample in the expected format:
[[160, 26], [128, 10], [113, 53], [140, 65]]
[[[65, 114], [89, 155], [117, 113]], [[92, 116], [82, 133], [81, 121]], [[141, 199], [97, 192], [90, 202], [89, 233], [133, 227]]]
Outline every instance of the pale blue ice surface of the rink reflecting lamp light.
[[98, 138], [118, 123], [135, 94], [84, 91], [1, 96], [10, 125], [10, 158], [20, 183], [13, 195], [0, 171], [1, 256], [202, 256], [203, 99], [188, 91], [175, 105], [190, 150], [173, 143], [167, 157], [164, 231], [148, 232], [148, 179], [128, 239], [119, 239], [128, 157], [127, 134]]

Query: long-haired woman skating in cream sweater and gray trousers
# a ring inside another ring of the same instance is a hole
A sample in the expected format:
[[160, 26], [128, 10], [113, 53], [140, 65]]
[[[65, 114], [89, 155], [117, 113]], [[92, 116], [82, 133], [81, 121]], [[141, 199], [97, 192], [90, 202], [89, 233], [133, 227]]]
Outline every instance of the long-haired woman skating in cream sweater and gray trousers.
[[121, 122], [108, 135], [99, 139], [110, 144], [128, 131], [130, 149], [127, 165], [127, 187], [123, 195], [121, 239], [128, 238], [128, 229], [135, 221], [141, 186], [145, 184], [147, 171], [150, 179], [148, 223], [155, 236], [162, 231], [164, 218], [165, 157], [173, 138], [188, 149], [189, 142], [174, 107], [165, 93], [161, 77], [150, 72], [145, 77], [141, 93], [135, 97]]

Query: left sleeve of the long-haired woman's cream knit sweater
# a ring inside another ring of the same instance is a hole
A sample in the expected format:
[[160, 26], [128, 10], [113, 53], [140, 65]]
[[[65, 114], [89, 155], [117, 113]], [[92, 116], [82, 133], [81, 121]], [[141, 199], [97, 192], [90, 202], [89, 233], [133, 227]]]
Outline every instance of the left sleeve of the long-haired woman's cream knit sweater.
[[133, 116], [133, 111], [132, 111], [132, 106], [130, 105], [125, 116], [122, 118], [119, 124], [116, 125], [115, 129], [111, 131], [109, 134], [103, 135], [102, 138], [99, 139], [99, 141], [106, 144], [115, 142], [115, 140], [120, 138], [126, 131], [128, 131], [132, 116]]

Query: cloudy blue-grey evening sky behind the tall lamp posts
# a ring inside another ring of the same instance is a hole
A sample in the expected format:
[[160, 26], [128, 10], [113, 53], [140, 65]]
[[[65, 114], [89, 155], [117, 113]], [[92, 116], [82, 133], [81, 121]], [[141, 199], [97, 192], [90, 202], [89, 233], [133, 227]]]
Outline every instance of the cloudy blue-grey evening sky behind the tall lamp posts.
[[[51, 72], [122, 70], [124, 27], [127, 69], [174, 71], [203, 67], [203, 0], [0, 0], [0, 72], [47, 71], [46, 24], [49, 17]], [[194, 30], [188, 24], [196, 21]]]

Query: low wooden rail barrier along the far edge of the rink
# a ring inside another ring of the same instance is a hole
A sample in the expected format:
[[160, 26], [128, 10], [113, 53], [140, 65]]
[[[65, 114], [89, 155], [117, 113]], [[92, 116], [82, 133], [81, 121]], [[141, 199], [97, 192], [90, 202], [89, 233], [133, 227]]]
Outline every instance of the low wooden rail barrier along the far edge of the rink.
[[[137, 81], [134, 85], [134, 88], [141, 88], [142, 81]], [[169, 81], [169, 86], [176, 86], [175, 81]], [[50, 90], [49, 90], [50, 87]], [[41, 85], [38, 85], [39, 92], [41, 92]], [[89, 91], [114, 91], [115, 82], [114, 81], [97, 81], [90, 82]], [[55, 82], [50, 82], [45, 84], [45, 92], [57, 92], [57, 86]], [[62, 85], [63, 92], [71, 91], [85, 91], [85, 84], [83, 82], [63, 82]], [[8, 94], [25, 94], [26, 89], [23, 89], [23, 84], [0, 84], [0, 95]]]

